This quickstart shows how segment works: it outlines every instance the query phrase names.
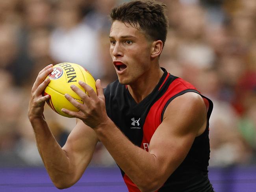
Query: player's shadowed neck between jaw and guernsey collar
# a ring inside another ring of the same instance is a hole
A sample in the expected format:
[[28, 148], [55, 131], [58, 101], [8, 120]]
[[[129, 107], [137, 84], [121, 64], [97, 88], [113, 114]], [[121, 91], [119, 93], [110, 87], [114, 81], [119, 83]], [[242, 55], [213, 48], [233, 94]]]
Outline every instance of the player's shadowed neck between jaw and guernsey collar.
[[154, 72], [146, 72], [142, 78], [128, 85], [128, 90], [135, 102], [139, 103], [147, 97], [154, 90], [162, 75], [163, 70], [158, 67]]

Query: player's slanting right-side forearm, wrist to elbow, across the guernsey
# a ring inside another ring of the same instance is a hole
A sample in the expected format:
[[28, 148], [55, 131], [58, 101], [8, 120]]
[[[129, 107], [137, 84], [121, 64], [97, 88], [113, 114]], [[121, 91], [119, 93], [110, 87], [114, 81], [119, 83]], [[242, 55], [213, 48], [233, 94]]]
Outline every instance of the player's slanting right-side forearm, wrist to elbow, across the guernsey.
[[159, 165], [154, 155], [132, 144], [113, 122], [95, 132], [120, 168], [140, 189], [150, 187], [146, 186], [148, 183], [155, 185], [152, 180], [158, 180]]

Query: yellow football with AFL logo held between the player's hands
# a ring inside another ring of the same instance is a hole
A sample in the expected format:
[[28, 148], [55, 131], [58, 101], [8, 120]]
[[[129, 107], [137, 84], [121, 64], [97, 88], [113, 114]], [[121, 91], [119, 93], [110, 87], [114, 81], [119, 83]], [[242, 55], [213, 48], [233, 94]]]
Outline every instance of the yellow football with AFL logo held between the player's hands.
[[79, 111], [74, 105], [72, 105], [66, 98], [65, 94], [69, 94], [76, 101], [83, 103], [83, 100], [78, 96], [71, 88], [70, 85], [76, 85], [82, 89], [86, 94], [78, 81], [83, 81], [90, 85], [96, 92], [95, 79], [93, 76], [82, 66], [75, 63], [59, 63], [53, 66], [53, 71], [46, 77], [51, 81], [45, 88], [44, 95], [50, 95], [50, 99], [47, 104], [58, 114], [71, 117], [61, 111], [62, 108], [70, 111]]

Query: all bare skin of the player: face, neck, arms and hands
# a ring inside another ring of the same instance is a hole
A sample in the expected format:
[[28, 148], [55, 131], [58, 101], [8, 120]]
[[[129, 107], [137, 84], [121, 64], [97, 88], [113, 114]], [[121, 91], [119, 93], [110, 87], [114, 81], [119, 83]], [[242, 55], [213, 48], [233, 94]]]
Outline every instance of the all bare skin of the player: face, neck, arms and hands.
[[[119, 21], [113, 22], [109, 40], [113, 63], [120, 61], [126, 65], [123, 71], [115, 67], [119, 81], [128, 85], [129, 92], [139, 103], [152, 92], [163, 74], [158, 63], [163, 42], [149, 41], [143, 31]], [[204, 101], [198, 94], [188, 92], [168, 105], [163, 122], [152, 136], [147, 152], [132, 144], [109, 119], [98, 79], [97, 94], [83, 82], [80, 85], [87, 90], [88, 95], [78, 87], [71, 86], [84, 104], [65, 94], [67, 100], [80, 111], [62, 109], [78, 120], [66, 144], [60, 148], [43, 118], [43, 106], [49, 99], [41, 95], [49, 83], [48, 79], [43, 79], [51, 72], [51, 67], [43, 69], [35, 81], [28, 116], [39, 153], [58, 188], [72, 186], [80, 179], [100, 140], [141, 191], [157, 190], [185, 159], [195, 137], [205, 130], [207, 118]]]

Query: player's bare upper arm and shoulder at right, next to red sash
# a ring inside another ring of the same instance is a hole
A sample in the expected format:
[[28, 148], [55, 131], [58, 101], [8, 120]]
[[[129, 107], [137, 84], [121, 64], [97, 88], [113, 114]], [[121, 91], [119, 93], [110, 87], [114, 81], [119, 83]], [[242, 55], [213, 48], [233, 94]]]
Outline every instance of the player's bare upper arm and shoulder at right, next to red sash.
[[155, 156], [163, 180], [184, 161], [205, 123], [206, 108], [196, 93], [186, 93], [168, 105], [149, 144], [149, 153]]

